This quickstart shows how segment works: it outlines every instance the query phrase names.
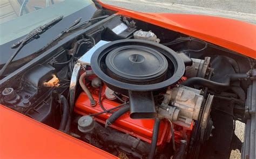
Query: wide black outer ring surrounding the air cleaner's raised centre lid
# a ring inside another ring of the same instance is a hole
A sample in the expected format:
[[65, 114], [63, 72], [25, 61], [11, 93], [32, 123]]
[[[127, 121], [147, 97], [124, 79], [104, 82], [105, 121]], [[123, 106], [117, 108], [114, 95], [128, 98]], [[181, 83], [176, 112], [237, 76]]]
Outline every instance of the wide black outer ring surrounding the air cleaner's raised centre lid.
[[[107, 73], [106, 69], [106, 56], [114, 49], [123, 46], [138, 46], [147, 47], [156, 52], [164, 55], [168, 61], [168, 68], [166, 78], [164, 81], [153, 83], [153, 84], [134, 84], [126, 83], [117, 79], [114, 79]], [[109, 88], [116, 92], [125, 91], [128, 94], [128, 90], [131, 91], [153, 91], [166, 88], [169, 85], [177, 83], [177, 81], [183, 76], [185, 72], [184, 61], [174, 52], [172, 49], [158, 44], [157, 42], [140, 40], [140, 39], [124, 39], [109, 42], [102, 47], [99, 47], [91, 57], [91, 67], [93, 72], [102, 79]], [[122, 92], [123, 93], [123, 92]]]

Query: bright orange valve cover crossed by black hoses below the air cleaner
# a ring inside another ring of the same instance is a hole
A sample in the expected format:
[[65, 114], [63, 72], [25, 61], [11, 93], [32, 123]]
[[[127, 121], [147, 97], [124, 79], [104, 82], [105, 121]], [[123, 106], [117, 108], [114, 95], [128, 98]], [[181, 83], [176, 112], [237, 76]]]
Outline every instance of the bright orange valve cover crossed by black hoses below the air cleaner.
[[[105, 89], [105, 88], [104, 88]], [[104, 92], [104, 90], [102, 91]], [[92, 94], [93, 98], [98, 101], [98, 96]], [[114, 102], [112, 100], [103, 98], [102, 105], [104, 105], [105, 109], [111, 109], [112, 107], [120, 105], [120, 103]], [[75, 110], [76, 113], [81, 115], [98, 113], [103, 110], [100, 108], [99, 103], [95, 107], [90, 105], [90, 100], [86, 96], [84, 92], [80, 93], [76, 104]], [[95, 119], [102, 124], [105, 124], [107, 118], [110, 117], [111, 114], [104, 113], [100, 114]], [[131, 119], [129, 117], [129, 112], [123, 114], [120, 118], [113, 122], [110, 127], [114, 129], [118, 129], [121, 132], [128, 133], [136, 138], [142, 139], [146, 142], [151, 143], [152, 133], [153, 133], [154, 120], [153, 119]], [[157, 145], [163, 145], [165, 142], [169, 142], [171, 139], [169, 122], [166, 120], [161, 120], [159, 133], [158, 133], [158, 141]]]

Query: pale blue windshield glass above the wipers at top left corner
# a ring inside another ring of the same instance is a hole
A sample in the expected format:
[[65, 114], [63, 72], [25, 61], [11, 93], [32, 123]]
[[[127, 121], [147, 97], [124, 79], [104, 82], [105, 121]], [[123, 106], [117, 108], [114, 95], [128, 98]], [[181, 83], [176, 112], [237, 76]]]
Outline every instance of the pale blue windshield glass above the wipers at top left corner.
[[28, 34], [52, 19], [92, 4], [89, 0], [1, 0], [0, 45]]

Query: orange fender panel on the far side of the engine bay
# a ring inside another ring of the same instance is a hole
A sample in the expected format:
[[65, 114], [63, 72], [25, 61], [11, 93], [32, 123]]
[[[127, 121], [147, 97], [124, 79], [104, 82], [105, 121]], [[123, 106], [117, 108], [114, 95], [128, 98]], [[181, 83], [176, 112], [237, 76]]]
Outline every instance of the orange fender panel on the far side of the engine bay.
[[98, 2], [104, 8], [117, 11], [117, 14], [190, 35], [256, 59], [256, 25], [214, 16], [142, 13]]

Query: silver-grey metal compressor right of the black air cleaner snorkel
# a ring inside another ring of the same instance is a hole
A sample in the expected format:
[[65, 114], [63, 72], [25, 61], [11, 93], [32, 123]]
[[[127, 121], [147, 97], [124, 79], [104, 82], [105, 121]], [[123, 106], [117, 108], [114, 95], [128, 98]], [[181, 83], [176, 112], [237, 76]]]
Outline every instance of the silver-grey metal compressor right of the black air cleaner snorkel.
[[[164, 100], [159, 107], [158, 116], [159, 118], [166, 118], [172, 121], [179, 120], [186, 124], [191, 124], [192, 120], [198, 120], [203, 100], [203, 91], [201, 90], [187, 86], [167, 89]], [[206, 104], [211, 106], [212, 98], [206, 100]]]

